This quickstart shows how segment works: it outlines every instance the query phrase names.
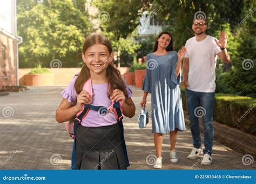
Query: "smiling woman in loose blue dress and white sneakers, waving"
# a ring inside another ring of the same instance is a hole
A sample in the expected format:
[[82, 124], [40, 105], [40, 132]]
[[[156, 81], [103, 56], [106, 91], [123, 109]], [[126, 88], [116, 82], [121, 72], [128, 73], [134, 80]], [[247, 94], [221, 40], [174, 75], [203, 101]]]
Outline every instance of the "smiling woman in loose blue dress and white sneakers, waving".
[[186, 47], [179, 52], [173, 51], [173, 39], [169, 32], [164, 31], [157, 37], [153, 53], [146, 57], [146, 75], [143, 81], [144, 90], [142, 107], [146, 105], [146, 97], [151, 93], [152, 132], [157, 160], [154, 168], [161, 168], [161, 151], [163, 133], [170, 134], [171, 162], [177, 162], [175, 150], [178, 131], [186, 130], [179, 83], [181, 81], [181, 62]]

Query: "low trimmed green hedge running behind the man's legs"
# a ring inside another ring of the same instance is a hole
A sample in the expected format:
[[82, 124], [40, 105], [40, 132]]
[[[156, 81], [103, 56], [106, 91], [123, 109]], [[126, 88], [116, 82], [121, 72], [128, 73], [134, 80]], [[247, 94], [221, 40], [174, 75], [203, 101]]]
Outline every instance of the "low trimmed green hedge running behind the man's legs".
[[[181, 89], [183, 109], [186, 110], [185, 89]], [[214, 121], [256, 135], [256, 98], [215, 93]]]

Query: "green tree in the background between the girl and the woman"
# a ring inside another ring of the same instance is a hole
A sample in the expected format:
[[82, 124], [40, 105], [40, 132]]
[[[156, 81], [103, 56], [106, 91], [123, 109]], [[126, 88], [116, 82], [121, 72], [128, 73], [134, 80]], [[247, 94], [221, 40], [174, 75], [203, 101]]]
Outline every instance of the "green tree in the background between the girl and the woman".
[[137, 37], [140, 10], [143, 3], [140, 1], [111, 0], [93, 3], [99, 12], [99, 29], [110, 39], [114, 52], [117, 55], [117, 65], [120, 67], [120, 55], [122, 52], [134, 54], [139, 45], [134, 40]]

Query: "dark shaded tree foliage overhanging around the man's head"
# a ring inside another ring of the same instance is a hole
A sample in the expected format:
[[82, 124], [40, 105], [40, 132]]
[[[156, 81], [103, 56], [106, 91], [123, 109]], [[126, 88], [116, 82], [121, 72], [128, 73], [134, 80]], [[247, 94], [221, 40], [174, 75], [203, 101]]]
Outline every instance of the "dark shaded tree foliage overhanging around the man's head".
[[[163, 30], [172, 33], [174, 50], [178, 51], [181, 46], [185, 45], [187, 39], [194, 36], [192, 22], [196, 12], [203, 11], [205, 13], [208, 20], [207, 34], [214, 36], [227, 22], [231, 24], [232, 29], [237, 25], [241, 17], [242, 2], [226, 0], [212, 3], [203, 0], [184, 0], [178, 3], [177, 1], [164, 0], [154, 1], [150, 10], [153, 11], [153, 9], [160, 7], [164, 8], [161, 8], [157, 13], [157, 18], [160, 25], [163, 25]], [[232, 11], [230, 11], [231, 9]]]

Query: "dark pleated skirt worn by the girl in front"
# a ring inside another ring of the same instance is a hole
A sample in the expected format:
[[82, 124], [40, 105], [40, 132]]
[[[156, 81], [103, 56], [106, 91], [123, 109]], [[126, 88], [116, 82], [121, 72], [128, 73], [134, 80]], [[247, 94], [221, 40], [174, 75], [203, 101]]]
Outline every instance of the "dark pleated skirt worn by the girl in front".
[[79, 125], [76, 137], [77, 169], [127, 169], [118, 124]]

